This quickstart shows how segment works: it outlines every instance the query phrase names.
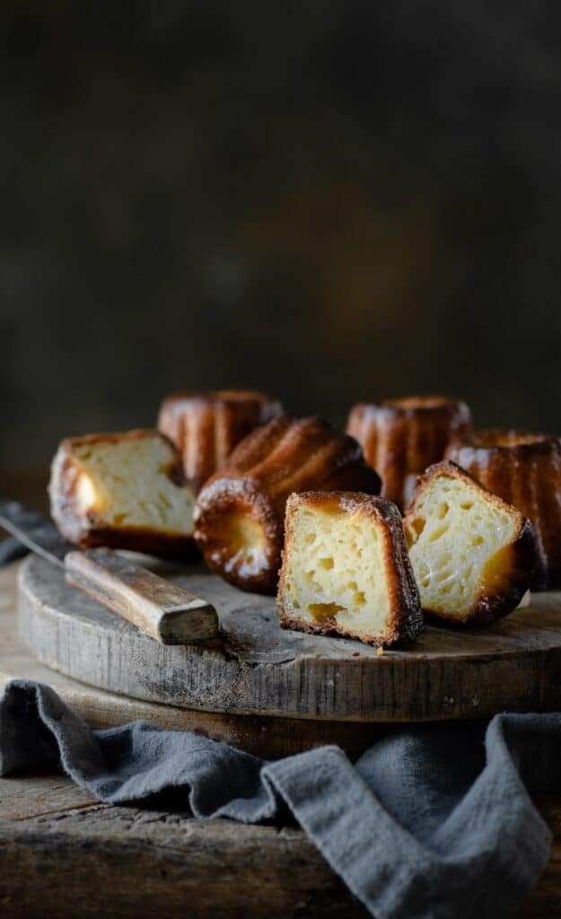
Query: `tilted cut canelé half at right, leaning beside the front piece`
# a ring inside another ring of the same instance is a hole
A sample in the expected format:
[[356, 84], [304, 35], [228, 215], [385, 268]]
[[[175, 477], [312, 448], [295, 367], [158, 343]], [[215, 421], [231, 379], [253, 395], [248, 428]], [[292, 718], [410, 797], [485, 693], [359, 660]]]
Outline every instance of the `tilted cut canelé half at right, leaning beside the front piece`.
[[530, 521], [455, 463], [422, 476], [404, 520], [424, 612], [463, 624], [506, 616], [530, 587]]

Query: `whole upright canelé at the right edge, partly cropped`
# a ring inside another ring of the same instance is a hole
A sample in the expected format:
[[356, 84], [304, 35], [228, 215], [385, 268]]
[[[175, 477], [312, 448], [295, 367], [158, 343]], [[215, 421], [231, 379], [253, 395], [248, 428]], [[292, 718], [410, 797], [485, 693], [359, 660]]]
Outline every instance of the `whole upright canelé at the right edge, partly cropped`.
[[532, 590], [561, 585], [561, 438], [493, 428], [452, 443], [446, 458], [533, 524], [537, 562]]

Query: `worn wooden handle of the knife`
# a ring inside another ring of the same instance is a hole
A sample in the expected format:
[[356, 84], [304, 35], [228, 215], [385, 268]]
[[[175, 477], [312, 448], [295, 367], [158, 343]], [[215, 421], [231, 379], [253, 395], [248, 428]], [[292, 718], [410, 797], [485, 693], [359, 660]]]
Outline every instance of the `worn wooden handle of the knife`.
[[110, 549], [69, 552], [66, 580], [162, 644], [207, 641], [218, 631], [216, 610]]

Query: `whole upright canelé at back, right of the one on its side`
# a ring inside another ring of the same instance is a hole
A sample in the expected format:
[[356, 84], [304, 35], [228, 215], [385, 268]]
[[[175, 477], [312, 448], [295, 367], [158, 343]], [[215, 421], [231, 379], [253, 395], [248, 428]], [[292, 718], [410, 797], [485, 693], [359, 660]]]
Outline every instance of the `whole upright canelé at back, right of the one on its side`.
[[444, 457], [448, 444], [466, 437], [472, 416], [464, 402], [446, 396], [407, 396], [359, 403], [349, 413], [347, 433], [382, 477], [382, 494], [403, 511], [418, 476]]

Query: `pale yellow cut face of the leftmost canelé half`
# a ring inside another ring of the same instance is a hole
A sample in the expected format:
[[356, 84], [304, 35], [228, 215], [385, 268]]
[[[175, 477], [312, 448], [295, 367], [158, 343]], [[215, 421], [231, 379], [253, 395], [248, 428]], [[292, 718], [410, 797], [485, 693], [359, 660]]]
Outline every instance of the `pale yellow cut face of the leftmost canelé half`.
[[94, 512], [111, 528], [193, 532], [194, 495], [172, 482], [174, 456], [161, 437], [83, 444], [73, 459], [78, 513]]

